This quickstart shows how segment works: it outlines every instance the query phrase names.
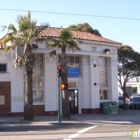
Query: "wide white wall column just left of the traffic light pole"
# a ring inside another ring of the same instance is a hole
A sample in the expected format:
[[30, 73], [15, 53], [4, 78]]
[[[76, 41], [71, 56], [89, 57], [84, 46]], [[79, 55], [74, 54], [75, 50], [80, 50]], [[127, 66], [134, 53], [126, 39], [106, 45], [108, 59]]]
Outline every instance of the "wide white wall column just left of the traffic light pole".
[[45, 55], [45, 115], [57, 115], [58, 84], [56, 57]]

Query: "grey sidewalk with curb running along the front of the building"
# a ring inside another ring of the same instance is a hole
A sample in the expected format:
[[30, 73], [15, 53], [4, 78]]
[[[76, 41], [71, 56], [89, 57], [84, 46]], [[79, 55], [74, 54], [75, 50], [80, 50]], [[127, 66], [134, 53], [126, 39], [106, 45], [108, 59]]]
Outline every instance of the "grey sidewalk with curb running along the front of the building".
[[[57, 116], [35, 116], [34, 121], [24, 121], [23, 117], [0, 117], [0, 124], [53, 124], [58, 123]], [[61, 123], [125, 123], [140, 124], [140, 110], [119, 109], [116, 115], [108, 114], [75, 114], [71, 120]]]

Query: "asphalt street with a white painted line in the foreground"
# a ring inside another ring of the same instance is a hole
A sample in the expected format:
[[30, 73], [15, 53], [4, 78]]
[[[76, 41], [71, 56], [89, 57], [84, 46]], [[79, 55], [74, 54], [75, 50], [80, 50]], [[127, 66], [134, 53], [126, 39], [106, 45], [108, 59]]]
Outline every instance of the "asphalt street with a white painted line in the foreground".
[[1, 140], [128, 140], [128, 131], [139, 124], [3, 124]]

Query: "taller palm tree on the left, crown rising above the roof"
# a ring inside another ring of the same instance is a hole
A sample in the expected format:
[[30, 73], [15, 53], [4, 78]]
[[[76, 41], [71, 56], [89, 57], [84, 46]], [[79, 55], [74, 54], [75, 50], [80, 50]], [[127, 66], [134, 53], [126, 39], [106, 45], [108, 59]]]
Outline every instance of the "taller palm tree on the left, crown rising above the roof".
[[33, 114], [33, 93], [32, 93], [32, 73], [34, 67], [34, 55], [32, 53], [32, 43], [41, 38], [40, 32], [49, 27], [48, 23], [37, 26], [37, 21], [31, 20], [31, 13], [17, 16], [18, 30], [13, 24], [7, 26], [8, 33], [2, 40], [4, 44], [11, 42], [10, 46], [5, 46], [4, 52], [16, 47], [23, 48], [22, 56], [14, 60], [14, 68], [24, 65], [24, 119], [34, 119]]

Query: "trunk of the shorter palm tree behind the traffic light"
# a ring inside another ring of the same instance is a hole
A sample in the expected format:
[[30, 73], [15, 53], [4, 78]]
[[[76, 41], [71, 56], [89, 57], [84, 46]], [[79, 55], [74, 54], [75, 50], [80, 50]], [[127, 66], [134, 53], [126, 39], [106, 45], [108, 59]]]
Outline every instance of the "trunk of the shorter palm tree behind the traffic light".
[[[60, 56], [60, 64], [62, 66], [61, 81], [68, 84], [67, 77], [67, 56], [65, 47], [62, 48], [62, 54]], [[69, 94], [68, 89], [62, 90], [62, 113], [63, 119], [70, 119], [70, 108], [69, 108]]]

